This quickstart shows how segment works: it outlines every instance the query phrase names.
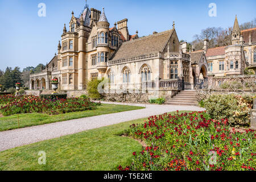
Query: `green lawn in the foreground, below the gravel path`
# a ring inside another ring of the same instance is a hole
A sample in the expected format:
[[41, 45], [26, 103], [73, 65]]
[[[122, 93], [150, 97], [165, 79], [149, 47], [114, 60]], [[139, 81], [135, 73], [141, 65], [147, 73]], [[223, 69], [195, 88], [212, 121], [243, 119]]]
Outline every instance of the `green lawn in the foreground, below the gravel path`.
[[[134, 151], [141, 150], [136, 140], [119, 137], [137, 119], [79, 134], [46, 140], [0, 152], [0, 170], [117, 170], [129, 166]], [[46, 152], [46, 165], [39, 165], [39, 151]]]

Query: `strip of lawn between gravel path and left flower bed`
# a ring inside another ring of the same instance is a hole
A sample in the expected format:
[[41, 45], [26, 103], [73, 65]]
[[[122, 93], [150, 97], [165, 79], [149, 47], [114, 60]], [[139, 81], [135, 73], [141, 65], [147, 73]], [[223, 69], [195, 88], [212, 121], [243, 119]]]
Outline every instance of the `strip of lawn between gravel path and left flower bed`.
[[[59, 115], [48, 115], [41, 113], [34, 114], [15, 114], [9, 117], [0, 118], [0, 131], [18, 129], [18, 127], [29, 127], [36, 125], [44, 125], [47, 123], [67, 121], [70, 119], [86, 118], [95, 115], [119, 113], [128, 110], [144, 109], [144, 107], [127, 106], [127, 105], [114, 105], [114, 104], [102, 104], [97, 106], [96, 110], [77, 111], [72, 113], [65, 113]], [[18, 124], [19, 116], [19, 124]]]

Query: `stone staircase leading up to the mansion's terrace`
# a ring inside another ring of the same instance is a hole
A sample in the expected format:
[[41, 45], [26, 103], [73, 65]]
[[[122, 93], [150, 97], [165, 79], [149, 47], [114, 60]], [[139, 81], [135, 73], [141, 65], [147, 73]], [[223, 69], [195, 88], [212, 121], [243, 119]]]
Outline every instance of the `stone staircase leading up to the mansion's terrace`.
[[164, 102], [167, 105], [198, 106], [195, 90], [183, 90], [170, 100]]

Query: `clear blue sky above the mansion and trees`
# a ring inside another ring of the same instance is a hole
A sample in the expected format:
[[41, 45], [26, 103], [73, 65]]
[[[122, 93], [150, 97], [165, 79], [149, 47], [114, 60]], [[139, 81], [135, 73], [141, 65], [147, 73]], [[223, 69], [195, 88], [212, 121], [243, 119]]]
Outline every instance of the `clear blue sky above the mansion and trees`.
[[[217, 5], [217, 17], [208, 15], [212, 2]], [[46, 17], [38, 16], [39, 3], [46, 4]], [[233, 26], [236, 14], [240, 24], [256, 17], [255, 0], [88, 0], [88, 5], [98, 10], [105, 7], [112, 27], [127, 18], [130, 34], [138, 30], [139, 36], [168, 30], [175, 21], [179, 39], [187, 42], [204, 28]], [[84, 6], [85, 0], [0, 0], [0, 69], [49, 63], [57, 52], [64, 23], [69, 23], [72, 10], [78, 16]]]

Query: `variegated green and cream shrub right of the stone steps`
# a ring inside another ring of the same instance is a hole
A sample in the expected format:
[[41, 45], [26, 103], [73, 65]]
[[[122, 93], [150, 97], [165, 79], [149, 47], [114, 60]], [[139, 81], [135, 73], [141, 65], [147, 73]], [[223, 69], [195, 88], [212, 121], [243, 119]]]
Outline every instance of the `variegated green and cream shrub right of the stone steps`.
[[228, 119], [231, 125], [249, 126], [253, 96], [222, 94], [204, 100], [204, 108], [214, 119]]

